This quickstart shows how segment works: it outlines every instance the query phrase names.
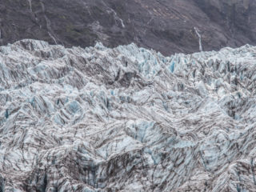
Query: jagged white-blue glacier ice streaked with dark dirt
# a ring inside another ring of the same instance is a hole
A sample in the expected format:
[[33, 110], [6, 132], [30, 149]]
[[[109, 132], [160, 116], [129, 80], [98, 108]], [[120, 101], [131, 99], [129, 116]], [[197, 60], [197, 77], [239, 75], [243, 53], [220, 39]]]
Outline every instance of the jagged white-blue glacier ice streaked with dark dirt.
[[0, 191], [254, 191], [256, 47], [0, 47]]

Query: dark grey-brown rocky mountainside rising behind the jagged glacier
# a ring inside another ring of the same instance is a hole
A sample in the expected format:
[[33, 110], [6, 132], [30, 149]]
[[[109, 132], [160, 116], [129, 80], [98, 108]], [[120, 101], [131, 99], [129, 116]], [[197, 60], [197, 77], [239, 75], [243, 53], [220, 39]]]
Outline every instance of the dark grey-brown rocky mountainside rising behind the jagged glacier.
[[34, 38], [65, 46], [135, 42], [164, 55], [256, 45], [254, 0], [1, 0], [0, 45]]

